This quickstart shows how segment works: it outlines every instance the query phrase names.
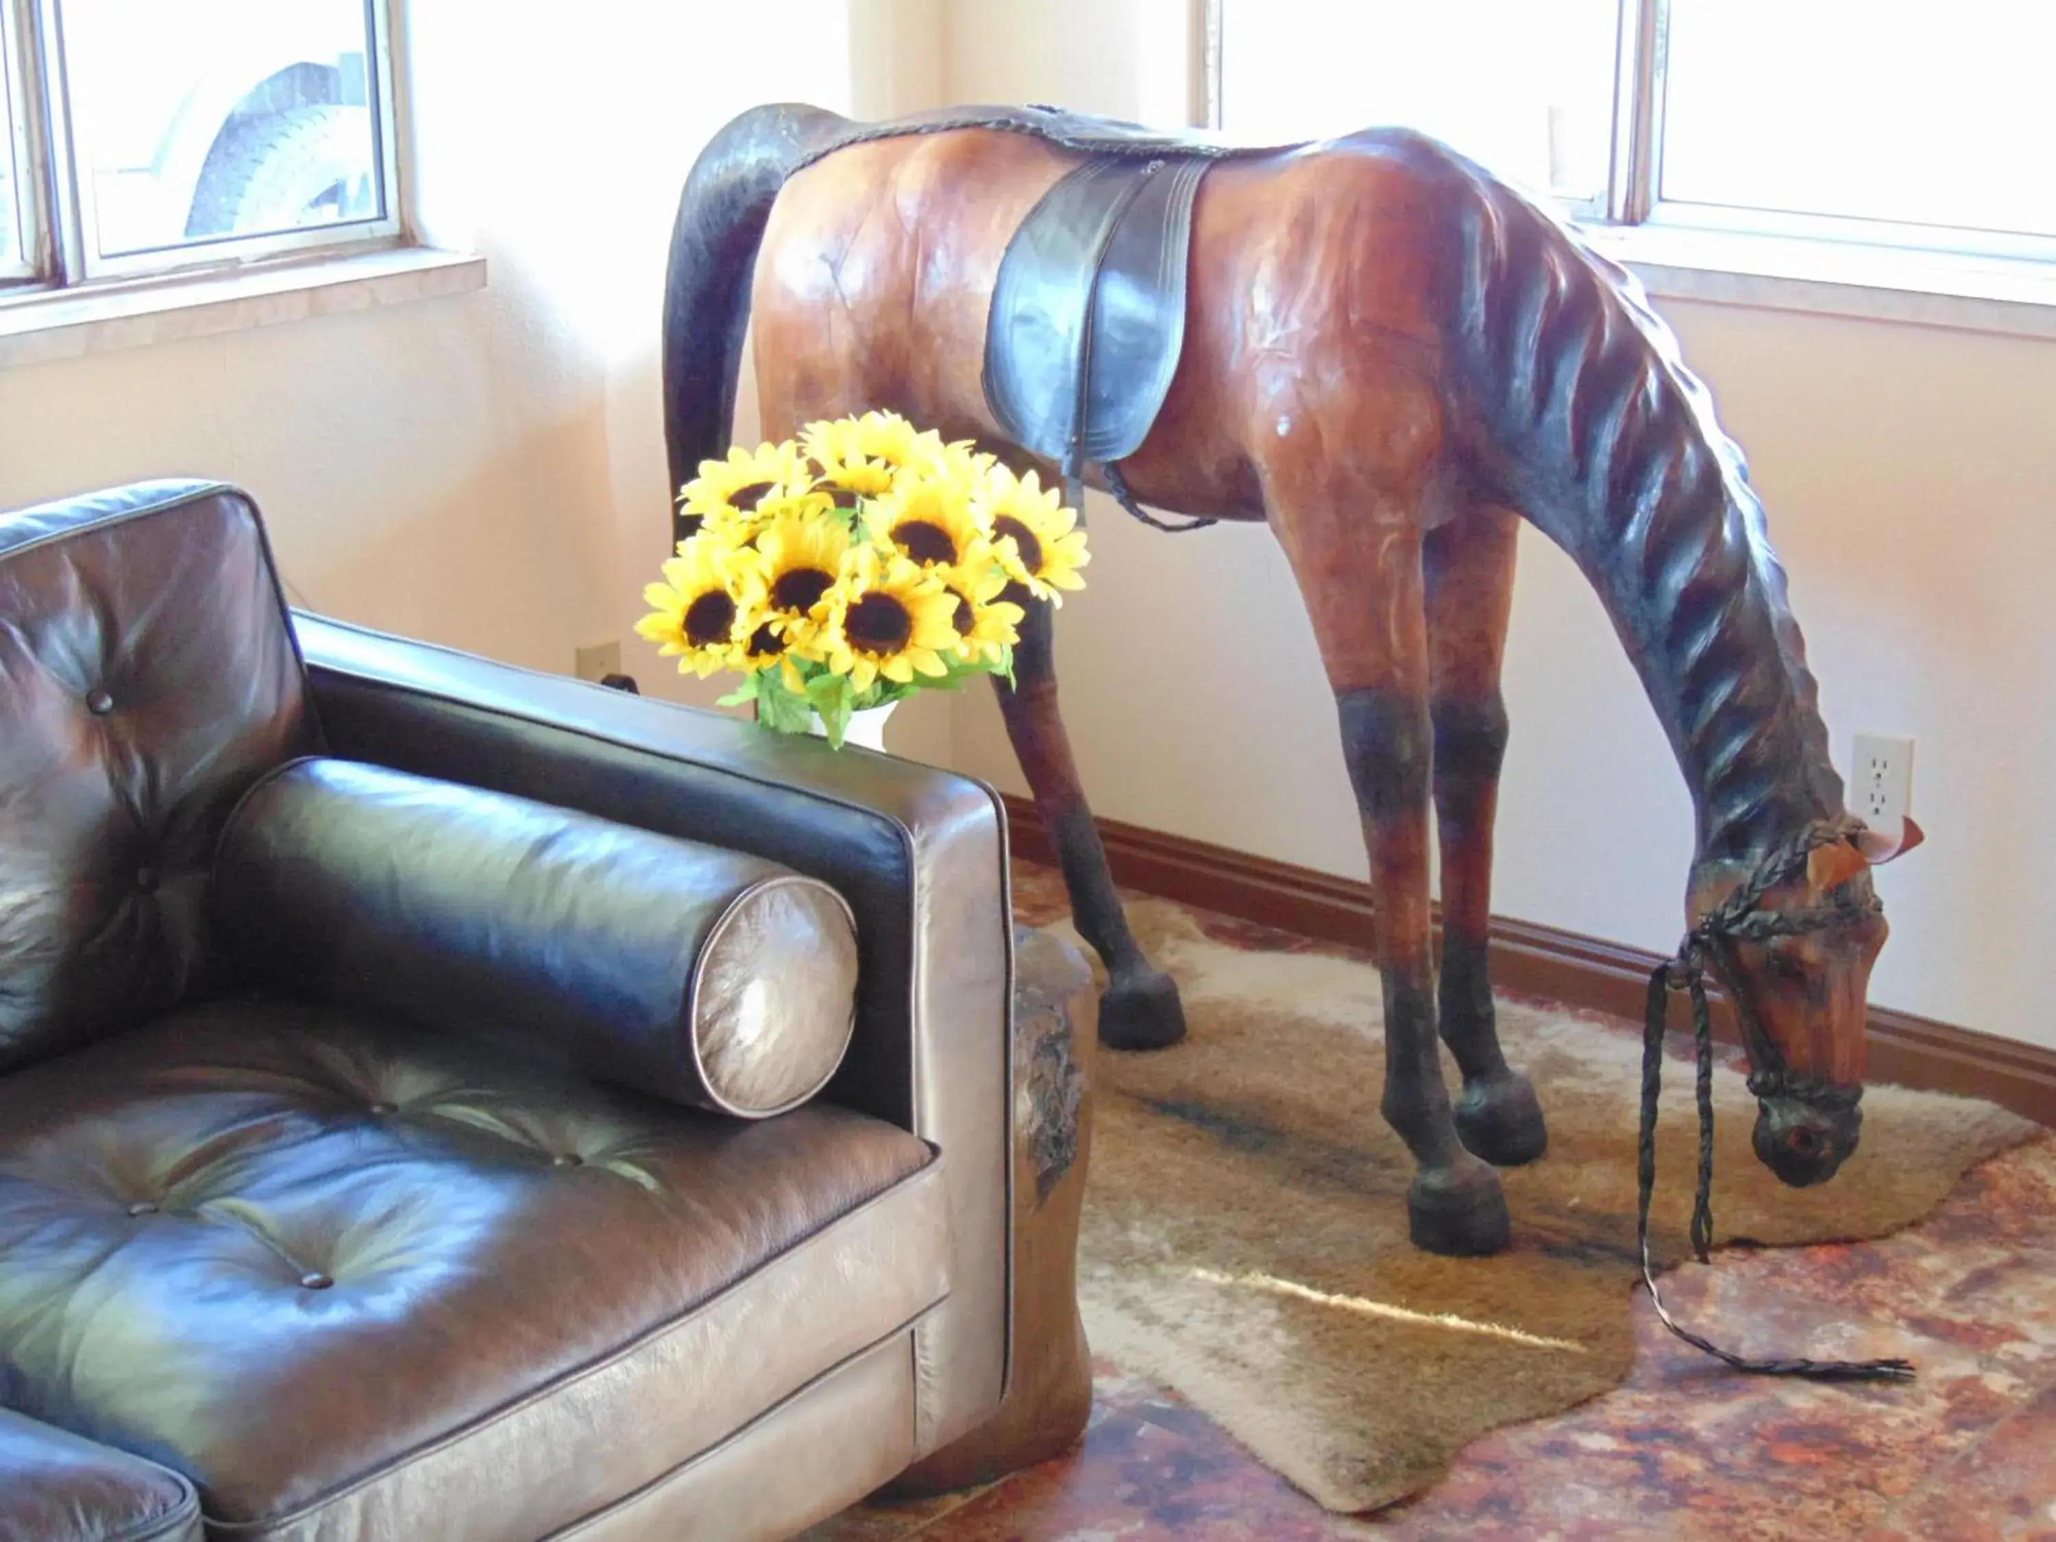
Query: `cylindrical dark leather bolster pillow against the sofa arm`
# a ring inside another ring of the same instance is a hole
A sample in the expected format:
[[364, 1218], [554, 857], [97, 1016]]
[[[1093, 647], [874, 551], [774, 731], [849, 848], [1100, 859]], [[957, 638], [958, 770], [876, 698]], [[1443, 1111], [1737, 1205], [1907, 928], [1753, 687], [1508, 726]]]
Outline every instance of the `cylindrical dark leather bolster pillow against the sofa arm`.
[[820, 1092], [855, 1024], [855, 923], [827, 884], [356, 761], [294, 761], [251, 787], [216, 849], [214, 909], [259, 979], [512, 1034], [740, 1118]]

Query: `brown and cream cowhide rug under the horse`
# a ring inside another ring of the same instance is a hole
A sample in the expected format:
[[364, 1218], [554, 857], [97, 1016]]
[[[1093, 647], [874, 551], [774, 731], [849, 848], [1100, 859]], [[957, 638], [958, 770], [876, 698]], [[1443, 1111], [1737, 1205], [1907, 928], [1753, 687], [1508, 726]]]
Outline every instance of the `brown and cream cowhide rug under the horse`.
[[[1227, 948], [1160, 901], [1129, 919], [1178, 979], [1190, 1036], [1100, 1057], [1079, 1248], [1096, 1353], [1176, 1388], [1332, 1511], [1404, 1499], [1474, 1435], [1622, 1380], [1637, 1283], [1630, 1034], [1501, 1001], [1507, 1059], [1542, 1096], [1550, 1149], [1505, 1172], [1507, 1254], [1435, 1258], [1406, 1240], [1410, 1162], [1378, 1114], [1378, 972]], [[1791, 1190], [1750, 1151], [1756, 1104], [1737, 1073], [1717, 1073], [1715, 1108], [1725, 1244], [1885, 1236], [2035, 1133], [1986, 1102], [1871, 1088], [1857, 1155], [1834, 1182]], [[1686, 1256], [1694, 1153], [1678, 1063], [1657, 1162], [1655, 1246], [1669, 1262]], [[1729, 1349], [1904, 1345], [1889, 1322], [1824, 1322], [1809, 1343], [1741, 1334]]]

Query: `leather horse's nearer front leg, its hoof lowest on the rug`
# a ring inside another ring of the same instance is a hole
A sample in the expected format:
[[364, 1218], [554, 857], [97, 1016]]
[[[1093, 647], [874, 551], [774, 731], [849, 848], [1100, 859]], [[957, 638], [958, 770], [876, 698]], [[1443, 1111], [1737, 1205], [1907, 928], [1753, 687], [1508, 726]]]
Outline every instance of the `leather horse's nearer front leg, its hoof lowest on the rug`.
[[1511, 1223], [1499, 1174], [1456, 1131], [1435, 1038], [1429, 933], [1429, 646], [1417, 489], [1349, 508], [1320, 485], [1279, 487], [1273, 522], [1306, 596], [1363, 814], [1386, 1005], [1386, 1123], [1417, 1172], [1406, 1190], [1415, 1246], [1489, 1254]]

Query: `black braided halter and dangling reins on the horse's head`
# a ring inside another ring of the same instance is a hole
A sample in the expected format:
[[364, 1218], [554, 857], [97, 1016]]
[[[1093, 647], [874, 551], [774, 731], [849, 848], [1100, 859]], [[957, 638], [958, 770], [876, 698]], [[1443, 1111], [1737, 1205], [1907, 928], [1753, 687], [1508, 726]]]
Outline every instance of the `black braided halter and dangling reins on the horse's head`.
[[[1663, 1092], [1663, 1028], [1672, 991], [1692, 997], [1692, 1040], [1696, 1051], [1694, 1092], [1698, 1098], [1698, 1192], [1692, 1199], [1692, 1252], [1706, 1262], [1713, 1248], [1713, 1012], [1706, 1005], [1706, 958], [1733, 942], [1766, 942], [1797, 938], [1807, 931], [1828, 931], [1883, 913], [1875, 896], [1865, 901], [1838, 898], [1805, 911], [1766, 911], [1764, 896], [1799, 876], [1807, 855], [1834, 841], [1846, 841], [1857, 829], [1850, 820], [1818, 820], [1793, 839], [1774, 845], [1750, 878], [1721, 905], [1702, 915], [1678, 944], [1674, 958], [1657, 964], [1649, 977], [1647, 1012], [1643, 1016], [1643, 1127], [1637, 1145], [1637, 1213], [1635, 1244], [1643, 1260], [1643, 1283], [1663, 1326], [1706, 1355], [1752, 1375], [1803, 1375], [1815, 1382], [1910, 1382], [1914, 1367], [1904, 1359], [1750, 1359], [1700, 1338], [1680, 1326], [1663, 1306], [1657, 1277], [1649, 1264], [1649, 1201], [1657, 1186], [1657, 1098]], [[1818, 1077], [1797, 1077], [1785, 1063], [1776, 1040], [1764, 1032], [1741, 993], [1735, 1012], [1748, 1040], [1750, 1092], [1762, 1098], [1797, 1098], [1824, 1110], [1850, 1110], [1863, 1098], [1863, 1088], [1838, 1088]]]

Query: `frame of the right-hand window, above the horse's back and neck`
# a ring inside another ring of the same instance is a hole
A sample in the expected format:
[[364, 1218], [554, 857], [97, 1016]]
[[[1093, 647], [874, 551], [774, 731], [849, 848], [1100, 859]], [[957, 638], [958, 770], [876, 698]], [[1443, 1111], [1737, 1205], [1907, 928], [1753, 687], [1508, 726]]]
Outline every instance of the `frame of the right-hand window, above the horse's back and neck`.
[[[1195, 58], [1205, 82], [1201, 121], [1221, 127], [1221, 37], [1227, 0], [1195, 0], [1199, 43]], [[2056, 282], [2056, 234], [1984, 230], [1976, 226], [1879, 220], [1869, 216], [1813, 214], [1739, 204], [1698, 204], [1663, 197], [1663, 119], [1667, 105], [1672, 0], [1618, 0], [1620, 25], [1614, 53], [1614, 123], [1608, 191], [1595, 204], [1567, 197], [1548, 201], [1595, 232], [1622, 255], [1637, 247], [1676, 251], [1680, 241], [1702, 251], [1739, 253], [1748, 245], [1809, 247], [1824, 257], [1836, 249], [1904, 259], [1900, 271], [1933, 271], [1935, 263], [1966, 269], [2013, 269], [2037, 284]], [[1645, 236], [1647, 232], [1647, 236]], [[1704, 241], [1694, 241], [1704, 236]], [[1852, 251], [1855, 249], [1855, 251]], [[1700, 263], [1686, 263], [1686, 267]], [[1748, 261], [1706, 261], [1709, 267], [1754, 271]], [[1875, 263], [1871, 263], [1875, 269]], [[1875, 278], [1859, 280], [1875, 284]], [[1926, 288], [1926, 284], [1908, 284]], [[1894, 286], [1896, 288], [1896, 286]], [[1937, 288], [1949, 294], [1951, 288]]]

